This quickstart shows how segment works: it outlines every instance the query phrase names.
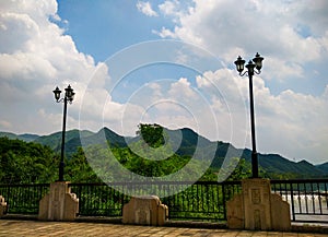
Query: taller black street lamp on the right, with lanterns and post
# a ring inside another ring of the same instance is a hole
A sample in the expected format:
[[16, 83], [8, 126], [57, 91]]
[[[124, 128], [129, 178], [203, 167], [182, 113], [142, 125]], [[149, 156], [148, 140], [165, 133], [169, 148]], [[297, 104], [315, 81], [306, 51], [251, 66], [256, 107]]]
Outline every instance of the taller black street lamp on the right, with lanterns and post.
[[[260, 57], [260, 55], [257, 52], [255, 58], [253, 60], [249, 60], [249, 62], [246, 64], [247, 71], [244, 71], [244, 64], [245, 60], [242, 59], [239, 56], [237, 60], [235, 61], [237, 71], [239, 72], [239, 75], [243, 76], [246, 73], [249, 78], [249, 100], [250, 100], [250, 127], [251, 127], [251, 177], [258, 178], [258, 157], [257, 157], [257, 151], [256, 151], [256, 140], [255, 140], [255, 117], [254, 117], [254, 98], [253, 98], [253, 75], [254, 73], [259, 74], [261, 73], [262, 68], [262, 60], [265, 58]], [[257, 71], [255, 70], [257, 69]]]

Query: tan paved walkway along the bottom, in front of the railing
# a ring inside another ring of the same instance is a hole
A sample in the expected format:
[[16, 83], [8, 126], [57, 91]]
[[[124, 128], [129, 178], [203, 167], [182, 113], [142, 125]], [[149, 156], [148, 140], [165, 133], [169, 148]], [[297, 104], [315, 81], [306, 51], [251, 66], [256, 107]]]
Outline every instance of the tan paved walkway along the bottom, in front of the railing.
[[247, 232], [229, 229], [207, 228], [178, 228], [178, 227], [151, 227], [103, 223], [77, 223], [77, 222], [38, 222], [0, 220], [0, 237], [11, 236], [191, 236], [191, 237], [215, 237], [215, 236], [283, 236], [283, 237], [324, 237], [324, 234], [297, 234], [278, 232]]

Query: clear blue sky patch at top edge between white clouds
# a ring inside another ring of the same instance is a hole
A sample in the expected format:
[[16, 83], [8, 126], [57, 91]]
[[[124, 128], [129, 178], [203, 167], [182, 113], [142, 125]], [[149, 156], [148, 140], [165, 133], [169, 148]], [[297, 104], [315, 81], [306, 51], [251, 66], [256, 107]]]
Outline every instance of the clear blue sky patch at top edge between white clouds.
[[[104, 61], [113, 54], [144, 40], [159, 39], [152, 29], [169, 20], [140, 13], [134, 1], [59, 1], [58, 14], [69, 23], [67, 34], [74, 38], [77, 48]], [[155, 3], [155, 1], [154, 1]], [[99, 32], [101, 31], [101, 32]]]

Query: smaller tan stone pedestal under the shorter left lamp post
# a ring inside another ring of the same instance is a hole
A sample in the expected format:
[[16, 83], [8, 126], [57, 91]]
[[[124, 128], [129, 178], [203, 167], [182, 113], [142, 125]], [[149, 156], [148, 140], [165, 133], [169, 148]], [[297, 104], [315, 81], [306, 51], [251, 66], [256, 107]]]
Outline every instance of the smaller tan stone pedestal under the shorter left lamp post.
[[74, 221], [79, 212], [79, 199], [71, 193], [69, 182], [50, 183], [50, 192], [39, 201], [38, 220]]

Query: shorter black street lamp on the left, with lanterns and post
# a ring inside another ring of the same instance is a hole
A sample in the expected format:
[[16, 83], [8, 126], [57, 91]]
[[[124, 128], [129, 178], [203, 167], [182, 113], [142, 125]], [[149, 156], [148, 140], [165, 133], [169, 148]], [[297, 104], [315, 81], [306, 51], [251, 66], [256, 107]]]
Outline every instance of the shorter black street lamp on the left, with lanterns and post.
[[71, 85], [65, 88], [65, 96], [60, 98], [61, 91], [58, 86], [52, 91], [57, 103], [63, 102], [63, 119], [62, 119], [62, 133], [61, 133], [61, 153], [60, 153], [60, 164], [59, 164], [59, 179], [58, 181], [63, 181], [63, 152], [65, 152], [65, 132], [66, 132], [66, 115], [67, 115], [67, 103], [72, 104], [75, 93], [71, 88]]

